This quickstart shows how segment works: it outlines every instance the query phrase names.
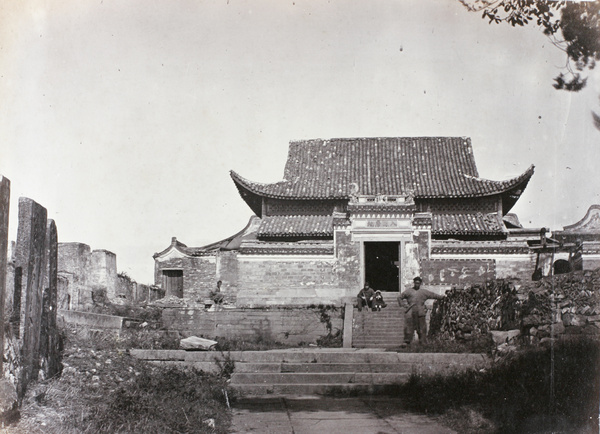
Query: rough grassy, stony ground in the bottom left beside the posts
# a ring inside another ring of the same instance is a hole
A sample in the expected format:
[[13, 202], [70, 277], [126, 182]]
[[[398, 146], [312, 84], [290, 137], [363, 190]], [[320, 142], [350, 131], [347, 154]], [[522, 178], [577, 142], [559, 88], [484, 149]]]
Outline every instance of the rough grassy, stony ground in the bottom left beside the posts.
[[32, 384], [9, 434], [226, 433], [226, 378], [157, 366], [105, 336], [68, 334], [59, 378]]

